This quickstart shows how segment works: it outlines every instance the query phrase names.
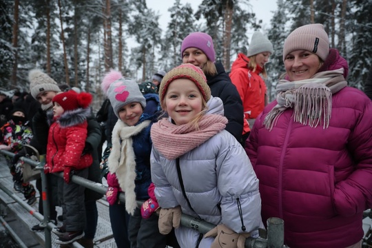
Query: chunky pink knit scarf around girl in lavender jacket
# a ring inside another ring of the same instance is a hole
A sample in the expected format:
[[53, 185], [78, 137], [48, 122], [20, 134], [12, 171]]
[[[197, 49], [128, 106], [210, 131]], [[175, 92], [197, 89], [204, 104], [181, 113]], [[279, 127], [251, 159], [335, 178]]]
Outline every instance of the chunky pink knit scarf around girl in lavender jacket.
[[152, 125], [152, 143], [165, 158], [173, 160], [224, 130], [226, 124], [227, 118], [217, 114], [203, 116], [198, 122], [198, 130], [189, 124], [174, 125], [163, 118]]

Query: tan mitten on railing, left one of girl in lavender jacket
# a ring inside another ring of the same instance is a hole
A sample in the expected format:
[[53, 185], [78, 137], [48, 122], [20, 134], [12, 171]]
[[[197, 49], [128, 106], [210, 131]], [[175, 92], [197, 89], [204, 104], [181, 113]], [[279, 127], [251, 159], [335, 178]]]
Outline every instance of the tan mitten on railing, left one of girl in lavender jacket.
[[180, 206], [169, 209], [161, 209], [158, 221], [160, 233], [166, 235], [172, 231], [172, 227], [178, 228], [180, 226], [181, 214], [182, 211]]

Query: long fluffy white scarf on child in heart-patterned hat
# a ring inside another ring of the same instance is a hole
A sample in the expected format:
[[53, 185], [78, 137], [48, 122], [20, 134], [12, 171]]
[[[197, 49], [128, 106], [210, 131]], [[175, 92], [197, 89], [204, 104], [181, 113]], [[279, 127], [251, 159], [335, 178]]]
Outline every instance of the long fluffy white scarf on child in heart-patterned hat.
[[136, 126], [128, 126], [118, 120], [112, 130], [112, 149], [107, 159], [109, 171], [116, 174], [121, 190], [125, 192], [125, 209], [131, 215], [136, 209], [136, 161], [132, 136], [139, 134], [151, 121], [143, 121]]

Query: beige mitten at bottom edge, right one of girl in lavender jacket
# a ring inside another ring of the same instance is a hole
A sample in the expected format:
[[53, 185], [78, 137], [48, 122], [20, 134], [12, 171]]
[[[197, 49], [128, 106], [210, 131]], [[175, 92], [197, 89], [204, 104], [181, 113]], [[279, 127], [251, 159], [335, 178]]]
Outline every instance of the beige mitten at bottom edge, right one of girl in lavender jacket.
[[204, 238], [216, 237], [211, 244], [211, 248], [220, 248], [220, 243], [226, 244], [229, 248], [244, 248], [245, 239], [251, 236], [249, 233], [237, 234], [229, 229], [225, 224], [220, 224], [208, 231]]

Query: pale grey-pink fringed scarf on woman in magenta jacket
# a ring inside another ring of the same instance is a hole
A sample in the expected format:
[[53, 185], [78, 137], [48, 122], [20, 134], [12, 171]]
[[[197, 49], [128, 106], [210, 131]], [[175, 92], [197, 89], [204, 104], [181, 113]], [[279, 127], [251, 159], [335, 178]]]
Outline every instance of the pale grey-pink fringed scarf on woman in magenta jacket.
[[319, 72], [311, 79], [301, 81], [280, 80], [276, 86], [278, 104], [265, 117], [264, 125], [272, 130], [280, 114], [293, 108], [294, 121], [323, 128], [329, 126], [332, 110], [332, 95], [347, 86], [343, 69]]

